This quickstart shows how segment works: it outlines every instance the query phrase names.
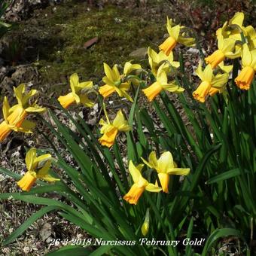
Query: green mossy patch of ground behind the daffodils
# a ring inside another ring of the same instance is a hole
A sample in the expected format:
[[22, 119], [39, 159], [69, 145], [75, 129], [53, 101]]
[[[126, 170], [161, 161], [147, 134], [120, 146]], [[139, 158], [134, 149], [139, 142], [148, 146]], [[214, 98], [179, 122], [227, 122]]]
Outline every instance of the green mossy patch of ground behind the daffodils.
[[[157, 48], [163, 39], [166, 16], [148, 17], [143, 11], [113, 5], [88, 11], [85, 3], [72, 2], [54, 11], [46, 8], [20, 25], [26, 46], [32, 45], [24, 55], [38, 66], [42, 84], [65, 84], [74, 72], [84, 80], [99, 81], [103, 62], [122, 64], [132, 59], [133, 50]], [[84, 43], [96, 36], [99, 41], [85, 49]]]

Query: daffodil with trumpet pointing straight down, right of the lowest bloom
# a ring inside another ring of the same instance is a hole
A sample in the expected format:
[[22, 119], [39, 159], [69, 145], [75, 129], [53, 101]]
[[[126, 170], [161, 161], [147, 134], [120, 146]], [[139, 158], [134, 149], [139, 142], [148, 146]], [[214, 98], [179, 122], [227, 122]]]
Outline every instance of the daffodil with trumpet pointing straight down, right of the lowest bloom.
[[169, 151], [161, 154], [158, 160], [154, 151], [149, 154], [148, 162], [143, 158], [142, 160], [147, 166], [157, 171], [160, 184], [165, 193], [169, 193], [169, 175], [187, 175], [190, 172], [189, 168], [177, 168], [177, 164], [173, 161], [172, 154]]

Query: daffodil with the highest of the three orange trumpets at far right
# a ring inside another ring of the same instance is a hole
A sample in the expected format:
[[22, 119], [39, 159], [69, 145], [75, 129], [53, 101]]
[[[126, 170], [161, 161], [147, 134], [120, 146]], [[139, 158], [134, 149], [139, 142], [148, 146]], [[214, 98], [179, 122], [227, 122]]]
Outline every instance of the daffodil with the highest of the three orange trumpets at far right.
[[224, 61], [225, 57], [235, 59], [241, 56], [241, 49], [232, 38], [224, 38], [223, 35], [219, 35], [218, 50], [206, 57], [206, 63], [211, 64], [212, 69], [215, 69], [220, 62]]

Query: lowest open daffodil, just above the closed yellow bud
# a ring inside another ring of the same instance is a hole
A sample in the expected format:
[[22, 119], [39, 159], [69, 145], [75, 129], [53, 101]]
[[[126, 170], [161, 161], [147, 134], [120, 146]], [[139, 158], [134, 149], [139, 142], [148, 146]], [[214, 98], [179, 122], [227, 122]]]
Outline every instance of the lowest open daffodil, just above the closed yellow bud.
[[138, 203], [139, 197], [142, 196], [142, 193], [145, 190], [150, 192], [160, 192], [161, 187], [158, 187], [152, 183], [149, 183], [145, 178], [142, 177], [142, 168], [143, 164], [139, 166], [134, 166], [132, 160], [129, 162], [129, 172], [133, 178], [133, 186], [130, 188], [128, 193], [123, 197], [130, 204], [136, 205]]

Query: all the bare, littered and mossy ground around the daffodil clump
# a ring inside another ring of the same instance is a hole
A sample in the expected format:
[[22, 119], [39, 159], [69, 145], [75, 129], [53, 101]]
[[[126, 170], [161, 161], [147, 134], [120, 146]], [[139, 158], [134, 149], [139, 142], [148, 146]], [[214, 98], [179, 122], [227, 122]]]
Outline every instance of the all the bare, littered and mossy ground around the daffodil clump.
[[[77, 72], [83, 81], [92, 80], [99, 84], [103, 62], [112, 66], [135, 59], [147, 65], [147, 47], [157, 50], [157, 45], [163, 41], [166, 16], [175, 17], [195, 32], [200, 31], [199, 42], [203, 44], [203, 37], [207, 38], [208, 44], [203, 47], [210, 52], [215, 47], [214, 29], [235, 11], [248, 8], [245, 3], [236, 4], [225, 14], [218, 10], [205, 17], [202, 11], [198, 12], [200, 5], [197, 2], [192, 8], [186, 1], [17, 0], [5, 14], [5, 20], [14, 24], [13, 29], [0, 41], [0, 100], [2, 102], [3, 97], [8, 96], [12, 102], [13, 87], [26, 83], [28, 87], [38, 89], [41, 105], [56, 111], [56, 98], [69, 90], [72, 73]], [[250, 8], [248, 17], [252, 17], [254, 11]], [[184, 51], [186, 69], [193, 73], [193, 66], [199, 61], [198, 50], [181, 50]], [[108, 105], [109, 111], [116, 111], [116, 106], [127, 109], [122, 101], [113, 100], [114, 104]], [[142, 103], [146, 104], [146, 101]], [[90, 111], [80, 107], [73, 111], [79, 112], [92, 127], [102, 113], [99, 105]], [[154, 114], [152, 109], [150, 111]], [[70, 124], [61, 113], [56, 111], [56, 114]], [[44, 118], [50, 120], [47, 114]], [[38, 123], [38, 130], [33, 135], [13, 133], [9, 136], [0, 145], [1, 166], [23, 174], [26, 171], [26, 148], [49, 148], [40, 132], [43, 129]], [[53, 143], [65, 151], [58, 142]], [[66, 157], [68, 162], [71, 161], [68, 155]], [[0, 193], [14, 191], [18, 191], [14, 179], [0, 175]], [[62, 200], [57, 194], [50, 197]], [[41, 206], [13, 200], [0, 203], [0, 254], [44, 255], [62, 246], [50, 245], [53, 238], [70, 241], [87, 237], [83, 230], [53, 213], [36, 221], [11, 245], [1, 247], [3, 239]]]

